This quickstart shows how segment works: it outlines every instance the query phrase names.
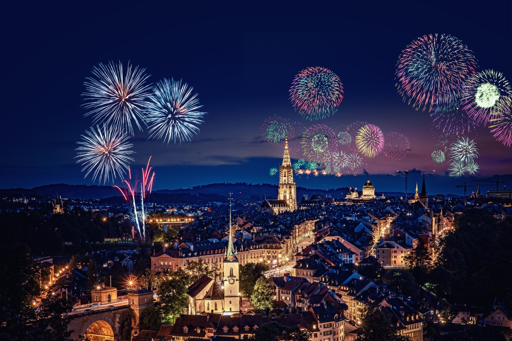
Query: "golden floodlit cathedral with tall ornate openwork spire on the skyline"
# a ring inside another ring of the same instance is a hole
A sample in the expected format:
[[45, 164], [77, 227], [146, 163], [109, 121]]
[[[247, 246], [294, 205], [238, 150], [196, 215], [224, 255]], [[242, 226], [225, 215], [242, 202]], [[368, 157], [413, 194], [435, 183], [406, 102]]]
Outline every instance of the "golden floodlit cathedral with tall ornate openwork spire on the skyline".
[[288, 150], [288, 138], [285, 140], [283, 163], [279, 167], [279, 186], [277, 199], [265, 199], [261, 204], [262, 210], [281, 214], [297, 209], [297, 184], [293, 181], [293, 168]]

